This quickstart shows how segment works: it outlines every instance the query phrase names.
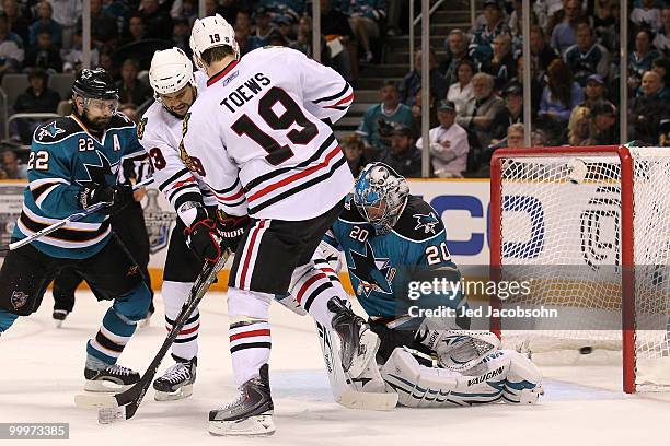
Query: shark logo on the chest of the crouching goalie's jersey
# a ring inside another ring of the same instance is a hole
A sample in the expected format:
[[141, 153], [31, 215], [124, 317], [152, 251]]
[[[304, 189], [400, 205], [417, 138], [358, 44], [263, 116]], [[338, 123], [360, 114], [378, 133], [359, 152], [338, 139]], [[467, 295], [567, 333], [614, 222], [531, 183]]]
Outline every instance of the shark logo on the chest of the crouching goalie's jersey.
[[374, 257], [374, 251], [369, 242], [366, 242], [365, 253], [349, 250], [351, 255], [351, 267], [349, 273], [359, 280], [356, 290], [357, 295], [370, 296], [372, 291], [391, 294], [391, 281], [395, 277], [395, 268], [390, 266], [388, 258]]

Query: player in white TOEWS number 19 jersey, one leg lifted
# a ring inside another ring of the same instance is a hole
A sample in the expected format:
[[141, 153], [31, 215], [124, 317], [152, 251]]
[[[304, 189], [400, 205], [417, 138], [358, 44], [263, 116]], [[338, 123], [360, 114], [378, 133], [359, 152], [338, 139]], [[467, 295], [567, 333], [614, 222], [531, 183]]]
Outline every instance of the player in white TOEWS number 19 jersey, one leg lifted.
[[[289, 48], [259, 48], [240, 60], [234, 31], [219, 15], [195, 22], [190, 47], [209, 80], [184, 119], [181, 156], [226, 214], [238, 216], [223, 221], [224, 227], [230, 233], [244, 228], [241, 237], [222, 234], [236, 251], [228, 313], [241, 396], [210, 412], [209, 432], [270, 434], [268, 307], [274, 295], [290, 292], [338, 333], [343, 367], [353, 376], [362, 372], [379, 342], [311, 260], [353, 186], [331, 124], [346, 113], [354, 93], [335, 71]], [[190, 246], [201, 257], [217, 255], [217, 237], [212, 225], [192, 225]]]

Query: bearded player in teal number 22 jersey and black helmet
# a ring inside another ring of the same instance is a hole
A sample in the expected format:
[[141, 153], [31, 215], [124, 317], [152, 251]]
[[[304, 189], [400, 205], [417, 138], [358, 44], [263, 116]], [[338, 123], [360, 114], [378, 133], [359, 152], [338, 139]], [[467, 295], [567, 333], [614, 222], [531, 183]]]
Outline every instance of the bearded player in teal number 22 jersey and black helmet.
[[109, 228], [109, 214], [132, 200], [117, 185], [125, 159], [143, 156], [136, 126], [117, 113], [118, 90], [103, 69], [82, 70], [72, 85], [72, 115], [38, 127], [28, 159], [28, 185], [13, 240], [74, 212], [104, 202], [100, 211], [8, 254], [0, 270], [0, 333], [18, 316], [35, 313], [47, 285], [72, 267], [99, 298], [113, 300], [86, 343], [85, 389], [107, 391], [135, 384], [139, 374], [116, 364], [147, 313], [150, 292], [139, 268]]

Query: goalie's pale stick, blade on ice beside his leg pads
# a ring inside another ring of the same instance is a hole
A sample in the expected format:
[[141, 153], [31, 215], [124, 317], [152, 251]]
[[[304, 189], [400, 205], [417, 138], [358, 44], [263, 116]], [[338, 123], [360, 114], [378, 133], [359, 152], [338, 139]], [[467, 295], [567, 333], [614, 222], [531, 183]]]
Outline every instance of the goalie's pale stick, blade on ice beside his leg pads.
[[[335, 402], [348, 409], [359, 410], [393, 410], [397, 404], [396, 392], [384, 392], [383, 389], [376, 391], [366, 391], [365, 386], [371, 382], [366, 375], [367, 371], [358, 377], [351, 377], [349, 373], [344, 372], [337, 353], [338, 345], [333, 332], [321, 324], [316, 322], [316, 331], [319, 332], [319, 345], [323, 353], [323, 361], [328, 374], [331, 390]], [[374, 356], [369, 367], [377, 368]], [[379, 372], [377, 372], [379, 375]], [[381, 379], [381, 376], [379, 377]], [[361, 389], [361, 390], [359, 390]]]

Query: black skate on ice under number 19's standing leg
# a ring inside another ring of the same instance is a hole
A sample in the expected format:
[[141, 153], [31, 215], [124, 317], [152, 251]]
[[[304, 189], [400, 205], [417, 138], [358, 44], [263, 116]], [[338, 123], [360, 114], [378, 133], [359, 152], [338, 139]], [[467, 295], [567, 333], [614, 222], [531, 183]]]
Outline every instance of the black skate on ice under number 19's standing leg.
[[209, 412], [209, 433], [212, 435], [272, 435], [273, 399], [270, 397], [268, 366], [261, 376], [240, 387], [240, 397], [233, 402]]

